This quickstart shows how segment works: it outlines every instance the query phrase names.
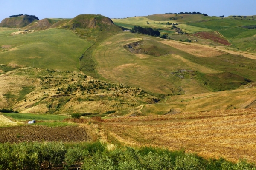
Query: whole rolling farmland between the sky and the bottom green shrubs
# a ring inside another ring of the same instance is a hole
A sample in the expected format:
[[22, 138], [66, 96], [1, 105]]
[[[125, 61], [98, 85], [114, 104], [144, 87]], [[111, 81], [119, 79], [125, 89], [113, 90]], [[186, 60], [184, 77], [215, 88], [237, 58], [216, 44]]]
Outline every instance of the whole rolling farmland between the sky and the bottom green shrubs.
[[202, 14], [6, 18], [0, 144], [100, 141], [255, 163], [255, 25]]

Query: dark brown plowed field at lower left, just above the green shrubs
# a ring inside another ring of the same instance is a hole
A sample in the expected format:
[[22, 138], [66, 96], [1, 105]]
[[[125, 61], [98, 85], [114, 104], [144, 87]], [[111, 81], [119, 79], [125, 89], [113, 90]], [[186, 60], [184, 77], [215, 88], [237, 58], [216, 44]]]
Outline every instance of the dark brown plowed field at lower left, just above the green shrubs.
[[86, 129], [83, 127], [46, 127], [37, 125], [14, 126], [0, 128], [0, 143], [4, 142], [80, 142], [88, 141]]

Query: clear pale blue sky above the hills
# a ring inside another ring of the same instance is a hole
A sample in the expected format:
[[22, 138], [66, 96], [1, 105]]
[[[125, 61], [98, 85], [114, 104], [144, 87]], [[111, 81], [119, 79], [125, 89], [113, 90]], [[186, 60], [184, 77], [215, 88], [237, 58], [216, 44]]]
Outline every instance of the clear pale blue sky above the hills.
[[79, 14], [124, 18], [193, 11], [224, 17], [256, 15], [256, 0], [0, 0], [0, 21], [17, 14], [39, 19]]

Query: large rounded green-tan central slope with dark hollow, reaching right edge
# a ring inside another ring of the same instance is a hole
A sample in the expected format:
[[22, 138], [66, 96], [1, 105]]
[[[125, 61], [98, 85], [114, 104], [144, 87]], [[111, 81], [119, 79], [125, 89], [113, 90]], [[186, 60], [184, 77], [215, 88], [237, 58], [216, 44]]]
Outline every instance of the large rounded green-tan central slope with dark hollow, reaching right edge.
[[[158, 42], [161, 40], [132, 33], [120, 33], [109, 37], [93, 51], [93, 59], [97, 63], [96, 70], [108, 81], [122, 82], [160, 94], [223, 90], [221, 86], [216, 85], [217, 79], [220, 84], [227, 85], [224, 90], [236, 89], [242, 84], [247, 84], [244, 78], [256, 81], [256, 62], [253, 59], [232, 54], [195, 57]], [[135, 54], [126, 49], [127, 44], [136, 41], [139, 41], [140, 45], [133, 49], [144, 51], [143, 53]], [[193, 70], [195, 75], [192, 76], [189, 72], [172, 74], [183, 69]], [[218, 75], [221, 72], [240, 77], [232, 75], [232, 78], [226, 79]], [[204, 76], [199, 76], [200, 74]], [[180, 86], [183, 89], [179, 88]]]

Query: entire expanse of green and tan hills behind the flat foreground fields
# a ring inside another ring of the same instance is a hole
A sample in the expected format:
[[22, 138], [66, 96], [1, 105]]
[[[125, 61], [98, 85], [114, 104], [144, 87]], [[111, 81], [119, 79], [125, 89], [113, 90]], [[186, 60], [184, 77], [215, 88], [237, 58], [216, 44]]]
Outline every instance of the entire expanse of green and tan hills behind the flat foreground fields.
[[[182, 22], [176, 26], [188, 32], [175, 34], [172, 25], [167, 24], [168, 20], [169, 23]], [[256, 29], [244, 27], [253, 24], [253, 20], [200, 14], [156, 14], [113, 21], [101, 15], [79, 15], [73, 19], [39, 20], [22, 28], [35, 31], [22, 34], [11, 28], [1, 28], [0, 64], [15, 64], [25, 70], [29, 67], [28, 72], [37, 75], [32, 79], [39, 77], [33, 81], [40, 82], [23, 85], [18, 91], [5, 89], [2, 94], [5, 102], [1, 107], [33, 113], [103, 114], [115, 111], [113, 116], [119, 116], [253, 106], [253, 88], [248, 87], [253, 87], [256, 82], [256, 55], [236, 48], [244, 45], [242, 50], [255, 50], [255, 37], [250, 34]], [[132, 34], [120, 27], [127, 24], [152, 26], [161, 34], [169, 33], [166, 39]], [[192, 42], [183, 42], [186, 39]], [[245, 39], [247, 42], [243, 41]], [[236, 40], [240, 42], [234, 43]], [[11, 71], [12, 67], [4, 66], [2, 74]], [[43, 70], [32, 71], [30, 67], [52, 72], [48, 75]], [[75, 72], [71, 74], [69, 71]], [[25, 72], [17, 71], [20, 79], [25, 80]], [[90, 79], [83, 79], [83, 74], [106, 85], [97, 82], [91, 86]], [[3, 75], [14, 79], [12, 74]], [[59, 84], [61, 79], [65, 81]], [[69, 94], [70, 83], [73, 90]], [[108, 93], [101, 88], [109, 89]], [[21, 97], [23, 91], [27, 92]], [[244, 91], [250, 98], [243, 95]], [[44, 96], [43, 92], [51, 95]], [[33, 102], [29, 101], [30, 93], [37, 96]], [[52, 97], [56, 95], [58, 97]], [[241, 99], [235, 99], [236, 95]], [[227, 96], [227, 99], [220, 96]], [[29, 102], [24, 102], [25, 99]]]

